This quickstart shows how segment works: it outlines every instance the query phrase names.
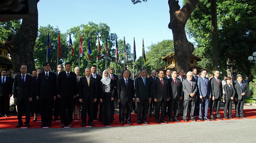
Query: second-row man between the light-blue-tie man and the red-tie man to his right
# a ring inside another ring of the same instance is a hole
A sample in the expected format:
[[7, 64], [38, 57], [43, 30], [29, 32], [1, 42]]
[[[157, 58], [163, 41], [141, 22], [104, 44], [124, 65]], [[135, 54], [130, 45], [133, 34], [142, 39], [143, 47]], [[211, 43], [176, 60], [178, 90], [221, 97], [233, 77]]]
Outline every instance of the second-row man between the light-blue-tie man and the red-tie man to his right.
[[[154, 84], [154, 81], [157, 79], [158, 77], [156, 77], [156, 70], [152, 70], [151, 71], [151, 76], [149, 78], [149, 80], [151, 81], [151, 93], [153, 95], [153, 84]], [[153, 116], [155, 116], [155, 110], [156, 110], [156, 105], [155, 105], [156, 102], [154, 102], [154, 100], [152, 99], [151, 102], [149, 102], [149, 111], [148, 111], [148, 115], [149, 115], [149, 118], [152, 117], [152, 113], [153, 113]]]

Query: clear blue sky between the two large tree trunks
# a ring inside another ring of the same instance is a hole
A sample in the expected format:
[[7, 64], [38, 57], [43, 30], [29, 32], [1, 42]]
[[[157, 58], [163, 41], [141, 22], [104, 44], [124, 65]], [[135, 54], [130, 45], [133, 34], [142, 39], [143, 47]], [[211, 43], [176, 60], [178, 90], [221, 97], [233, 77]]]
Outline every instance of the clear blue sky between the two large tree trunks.
[[[182, 4], [179, 2], [180, 5]], [[168, 0], [148, 0], [133, 5], [131, 0], [40, 0], [38, 26], [50, 24], [61, 32], [87, 24], [89, 21], [106, 23], [111, 33], [133, 48], [136, 42], [137, 57], [142, 55], [142, 38], [145, 47], [164, 39], [173, 39], [168, 28], [170, 21]], [[145, 48], [147, 50], [147, 48]], [[133, 50], [132, 50], [133, 52]]]

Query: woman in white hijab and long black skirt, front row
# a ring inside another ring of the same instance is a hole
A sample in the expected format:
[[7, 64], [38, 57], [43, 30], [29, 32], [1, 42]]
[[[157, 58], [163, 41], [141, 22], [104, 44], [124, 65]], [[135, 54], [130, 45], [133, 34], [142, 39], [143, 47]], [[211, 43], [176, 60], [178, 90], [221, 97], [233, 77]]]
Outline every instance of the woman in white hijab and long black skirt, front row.
[[108, 126], [113, 122], [113, 102], [114, 102], [114, 86], [113, 80], [109, 78], [109, 71], [104, 70], [101, 79], [102, 93], [100, 94], [100, 113], [99, 122]]

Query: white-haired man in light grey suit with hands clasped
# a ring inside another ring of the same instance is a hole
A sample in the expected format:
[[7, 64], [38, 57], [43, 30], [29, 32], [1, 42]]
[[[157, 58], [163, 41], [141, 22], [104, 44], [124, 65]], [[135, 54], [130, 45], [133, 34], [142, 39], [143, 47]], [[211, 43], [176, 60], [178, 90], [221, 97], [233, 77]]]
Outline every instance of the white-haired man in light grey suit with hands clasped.
[[190, 119], [196, 121], [194, 117], [195, 103], [196, 103], [196, 93], [197, 84], [196, 81], [192, 80], [192, 72], [187, 72], [187, 79], [182, 81], [182, 90], [184, 92], [184, 110], [183, 110], [183, 120], [187, 122], [187, 112], [190, 109]]

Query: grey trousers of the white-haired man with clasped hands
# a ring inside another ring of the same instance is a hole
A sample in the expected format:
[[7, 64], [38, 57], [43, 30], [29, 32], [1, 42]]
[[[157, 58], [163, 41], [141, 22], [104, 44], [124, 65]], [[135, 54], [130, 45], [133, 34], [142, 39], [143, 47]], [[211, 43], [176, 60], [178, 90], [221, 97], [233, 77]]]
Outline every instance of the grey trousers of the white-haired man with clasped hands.
[[184, 110], [183, 110], [183, 119], [187, 119], [187, 112], [190, 110], [190, 119], [194, 119], [194, 110], [196, 106], [195, 100], [184, 100], [183, 102]]

